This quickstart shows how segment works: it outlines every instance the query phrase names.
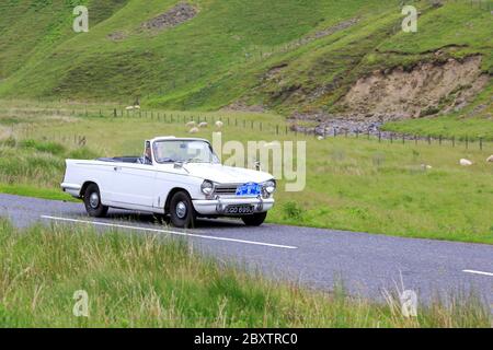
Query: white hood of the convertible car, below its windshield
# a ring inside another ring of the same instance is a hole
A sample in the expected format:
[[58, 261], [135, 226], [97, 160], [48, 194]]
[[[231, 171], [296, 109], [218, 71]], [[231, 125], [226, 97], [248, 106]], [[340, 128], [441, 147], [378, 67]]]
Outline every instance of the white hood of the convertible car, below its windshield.
[[268, 173], [221, 164], [188, 163], [184, 164], [183, 167], [192, 176], [219, 184], [263, 183], [273, 178]]

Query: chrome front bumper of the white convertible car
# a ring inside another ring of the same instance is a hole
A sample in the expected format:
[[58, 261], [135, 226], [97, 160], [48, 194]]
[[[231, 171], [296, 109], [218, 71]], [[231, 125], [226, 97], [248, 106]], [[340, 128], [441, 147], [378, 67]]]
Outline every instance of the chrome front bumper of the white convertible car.
[[265, 212], [274, 206], [274, 198], [262, 197], [216, 197], [215, 199], [192, 200], [195, 211], [203, 215], [228, 215], [228, 206], [253, 206], [254, 212]]

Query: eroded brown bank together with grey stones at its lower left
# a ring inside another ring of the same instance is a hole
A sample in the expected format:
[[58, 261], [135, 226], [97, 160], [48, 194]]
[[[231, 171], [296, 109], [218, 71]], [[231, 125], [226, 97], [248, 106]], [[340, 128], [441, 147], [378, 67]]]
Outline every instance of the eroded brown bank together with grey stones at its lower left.
[[375, 71], [358, 79], [341, 100], [343, 113], [296, 113], [290, 118], [291, 129], [323, 136], [370, 133], [389, 137], [389, 132], [380, 130], [387, 121], [447, 114], [466, 107], [491, 80], [481, 70], [481, 56], [463, 60], [438, 57], [410, 69], [398, 67]]

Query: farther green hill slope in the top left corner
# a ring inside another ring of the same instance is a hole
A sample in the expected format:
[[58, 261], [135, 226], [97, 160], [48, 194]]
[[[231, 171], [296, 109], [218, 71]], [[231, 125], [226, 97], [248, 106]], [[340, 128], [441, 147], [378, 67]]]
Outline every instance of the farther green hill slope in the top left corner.
[[[0, 79], [15, 73], [25, 77], [30, 67], [49, 66], [56, 47], [74, 34], [72, 9], [87, 4], [90, 23], [112, 16], [127, 0], [5, 0], [0, 5]], [[24, 73], [23, 73], [24, 72]], [[28, 75], [28, 74], [27, 74]], [[35, 77], [33, 77], [35, 78]], [[31, 81], [31, 83], [35, 82]]]

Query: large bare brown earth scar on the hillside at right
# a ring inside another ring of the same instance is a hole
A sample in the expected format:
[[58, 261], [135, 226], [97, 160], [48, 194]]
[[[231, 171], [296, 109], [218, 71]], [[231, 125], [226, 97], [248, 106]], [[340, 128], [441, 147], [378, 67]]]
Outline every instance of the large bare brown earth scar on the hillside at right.
[[481, 71], [481, 56], [421, 62], [410, 71], [397, 68], [359, 79], [341, 104], [362, 119], [424, 117], [463, 108], [490, 79]]

